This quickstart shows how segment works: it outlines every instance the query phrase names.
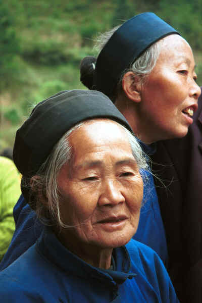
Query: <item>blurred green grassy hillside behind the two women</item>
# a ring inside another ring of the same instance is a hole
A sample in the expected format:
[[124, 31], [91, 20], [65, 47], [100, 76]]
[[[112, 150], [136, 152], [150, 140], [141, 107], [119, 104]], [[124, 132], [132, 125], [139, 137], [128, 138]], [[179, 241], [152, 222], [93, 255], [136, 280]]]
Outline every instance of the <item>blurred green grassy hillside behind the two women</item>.
[[0, 0], [0, 151], [13, 147], [33, 104], [85, 88], [79, 64], [96, 56], [98, 33], [148, 11], [192, 46], [202, 85], [202, 0]]

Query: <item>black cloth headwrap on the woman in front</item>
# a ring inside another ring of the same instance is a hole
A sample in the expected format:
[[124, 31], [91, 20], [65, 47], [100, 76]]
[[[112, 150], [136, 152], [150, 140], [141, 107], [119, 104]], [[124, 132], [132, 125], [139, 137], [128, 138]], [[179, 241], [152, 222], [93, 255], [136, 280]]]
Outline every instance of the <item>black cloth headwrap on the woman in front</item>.
[[33, 176], [54, 145], [75, 124], [104, 117], [132, 132], [124, 116], [99, 91], [66, 90], [39, 103], [16, 133], [13, 160], [24, 177]]

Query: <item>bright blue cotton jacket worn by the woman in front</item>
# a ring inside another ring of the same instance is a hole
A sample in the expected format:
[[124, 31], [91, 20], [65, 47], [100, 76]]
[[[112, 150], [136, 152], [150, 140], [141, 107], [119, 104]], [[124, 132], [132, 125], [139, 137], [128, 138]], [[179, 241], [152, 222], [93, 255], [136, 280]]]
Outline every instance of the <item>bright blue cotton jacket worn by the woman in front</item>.
[[113, 250], [116, 270], [90, 266], [48, 230], [0, 273], [2, 303], [178, 302], [167, 271], [149, 247], [135, 240]]

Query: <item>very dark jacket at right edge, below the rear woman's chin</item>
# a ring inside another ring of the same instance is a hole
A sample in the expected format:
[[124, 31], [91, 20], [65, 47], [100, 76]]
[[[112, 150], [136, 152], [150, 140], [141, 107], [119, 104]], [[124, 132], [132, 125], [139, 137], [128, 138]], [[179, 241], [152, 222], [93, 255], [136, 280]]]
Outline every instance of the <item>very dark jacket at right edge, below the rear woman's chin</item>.
[[169, 251], [169, 273], [181, 302], [202, 302], [202, 94], [188, 134], [159, 141], [151, 156]]

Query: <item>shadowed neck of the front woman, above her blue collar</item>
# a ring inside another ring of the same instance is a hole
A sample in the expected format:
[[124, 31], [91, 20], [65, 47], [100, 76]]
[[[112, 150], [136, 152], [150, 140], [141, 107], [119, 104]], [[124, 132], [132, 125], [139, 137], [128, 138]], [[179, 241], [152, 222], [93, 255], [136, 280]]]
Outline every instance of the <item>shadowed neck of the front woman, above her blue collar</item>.
[[103, 269], [109, 269], [112, 260], [113, 248], [102, 248], [93, 244], [80, 242], [75, 235], [68, 231], [62, 231], [56, 234], [59, 241], [74, 255], [84, 262]]

